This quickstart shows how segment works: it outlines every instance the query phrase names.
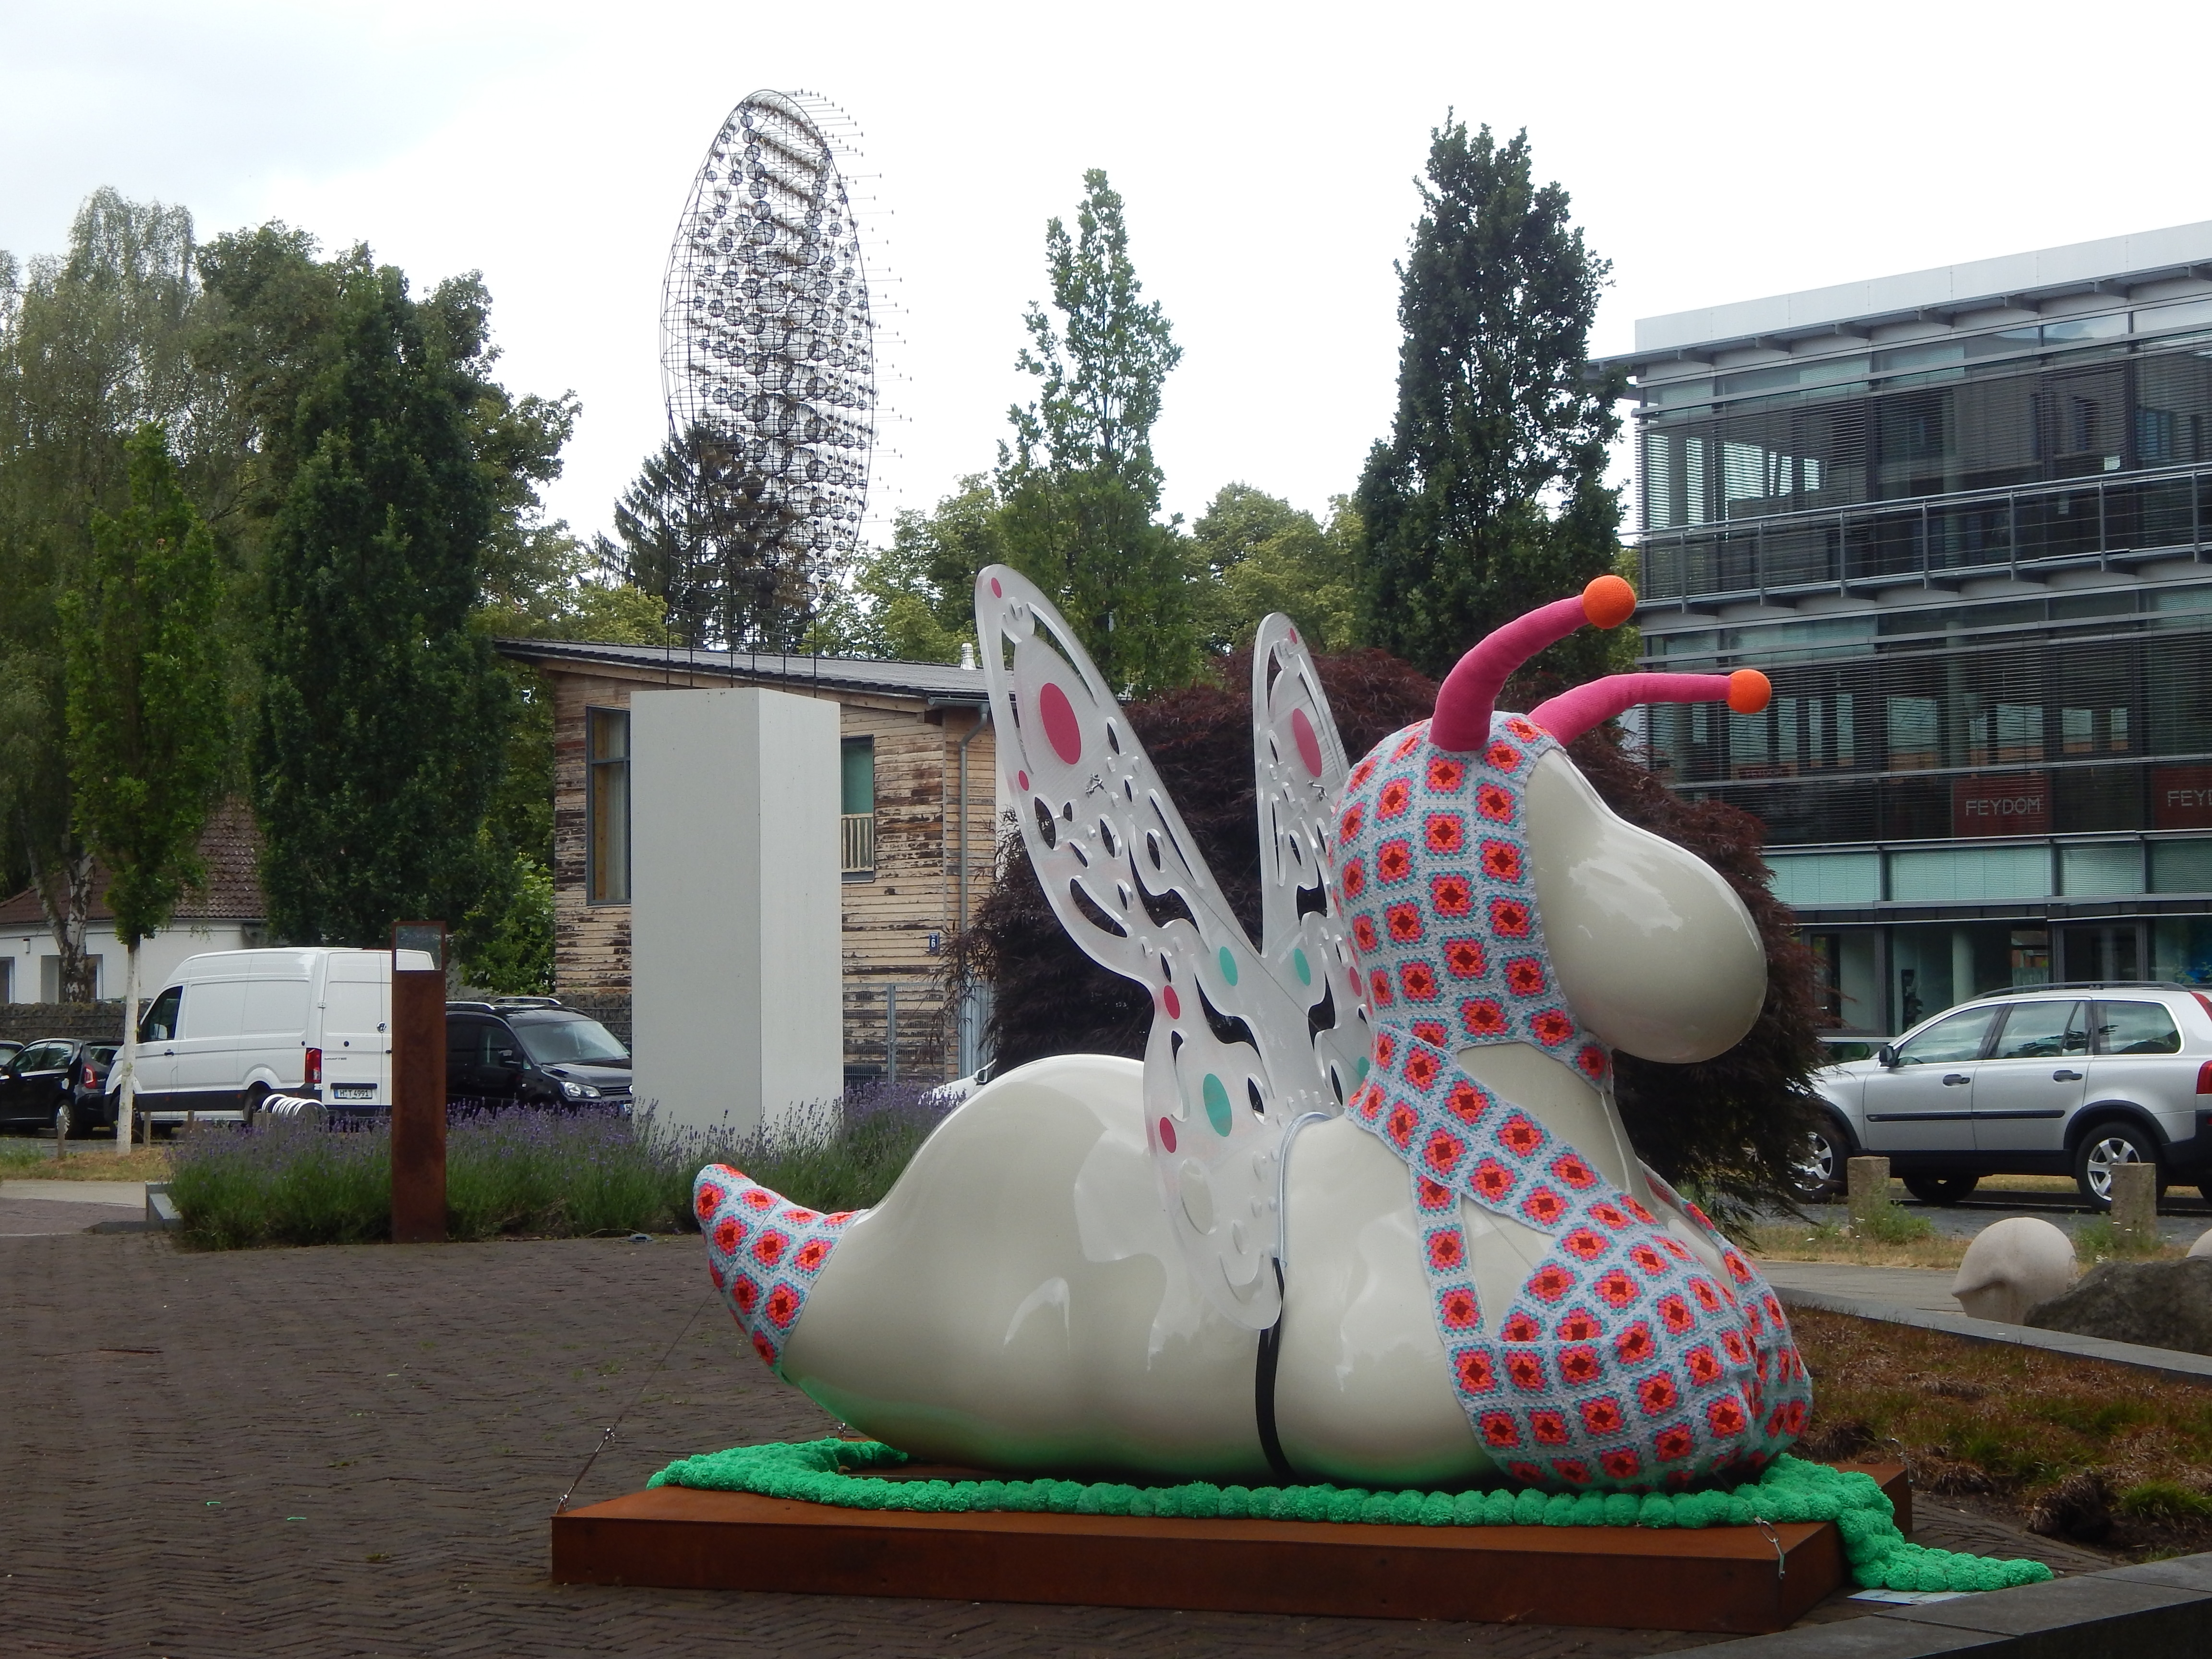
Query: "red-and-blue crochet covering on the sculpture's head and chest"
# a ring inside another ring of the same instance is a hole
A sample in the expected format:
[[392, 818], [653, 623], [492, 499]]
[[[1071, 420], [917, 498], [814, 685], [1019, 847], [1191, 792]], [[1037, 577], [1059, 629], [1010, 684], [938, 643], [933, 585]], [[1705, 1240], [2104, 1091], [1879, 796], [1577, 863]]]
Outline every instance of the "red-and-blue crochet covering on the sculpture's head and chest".
[[[1338, 894], [1374, 1053], [1349, 1113], [1407, 1164], [1436, 1329], [1491, 1458], [1553, 1491], [1681, 1486], [1759, 1469], [1805, 1427], [1812, 1391], [1781, 1301], [1657, 1177], [1725, 1274], [1451, 1057], [1526, 1042], [1610, 1088], [1610, 1055], [1559, 995], [1535, 902], [1526, 781], [1555, 748], [1498, 714], [1482, 754], [1455, 754], [1422, 721], [1352, 770]], [[1495, 1336], [1482, 1332], [1462, 1199], [1553, 1239]]]

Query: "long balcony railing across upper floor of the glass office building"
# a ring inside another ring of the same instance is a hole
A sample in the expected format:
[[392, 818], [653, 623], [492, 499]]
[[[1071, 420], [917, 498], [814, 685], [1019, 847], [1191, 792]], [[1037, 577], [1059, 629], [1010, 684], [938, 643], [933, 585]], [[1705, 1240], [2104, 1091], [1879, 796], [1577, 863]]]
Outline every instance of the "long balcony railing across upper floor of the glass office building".
[[2139, 557], [2208, 557], [2212, 467], [1858, 502], [1646, 531], [1646, 602], [1739, 604], [1803, 593]]

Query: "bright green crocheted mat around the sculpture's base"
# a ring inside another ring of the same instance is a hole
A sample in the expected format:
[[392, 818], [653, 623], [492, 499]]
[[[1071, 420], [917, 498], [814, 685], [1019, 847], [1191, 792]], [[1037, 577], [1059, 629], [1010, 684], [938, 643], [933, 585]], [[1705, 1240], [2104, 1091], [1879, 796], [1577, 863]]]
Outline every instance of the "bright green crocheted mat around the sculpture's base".
[[1371, 1522], [1389, 1526], [1756, 1526], [1836, 1522], [1851, 1577], [1867, 1590], [2002, 1590], [2051, 1577], [2042, 1562], [1922, 1548], [1898, 1531], [1889, 1498], [1860, 1471], [1776, 1458], [1759, 1480], [1697, 1493], [1367, 1491], [1363, 1486], [1124, 1486], [1079, 1480], [854, 1480], [907, 1453], [878, 1440], [805, 1440], [681, 1458], [648, 1486], [745, 1491], [838, 1509], [925, 1515], [1177, 1515], [1186, 1520]]

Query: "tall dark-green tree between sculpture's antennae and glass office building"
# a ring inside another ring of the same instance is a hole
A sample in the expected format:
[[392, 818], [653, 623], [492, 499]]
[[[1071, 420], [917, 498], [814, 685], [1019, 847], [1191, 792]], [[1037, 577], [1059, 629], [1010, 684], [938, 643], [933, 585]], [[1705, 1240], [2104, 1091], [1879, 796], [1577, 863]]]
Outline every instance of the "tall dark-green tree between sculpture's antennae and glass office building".
[[[1367, 456], [1360, 619], [1371, 644], [1442, 675], [1478, 637], [1619, 557], [1606, 447], [1617, 380], [1588, 376], [1610, 265], [1531, 175], [1528, 135], [1431, 133], [1422, 215], [1398, 265], [1398, 416]], [[1608, 666], [1571, 635], [1540, 668]]]

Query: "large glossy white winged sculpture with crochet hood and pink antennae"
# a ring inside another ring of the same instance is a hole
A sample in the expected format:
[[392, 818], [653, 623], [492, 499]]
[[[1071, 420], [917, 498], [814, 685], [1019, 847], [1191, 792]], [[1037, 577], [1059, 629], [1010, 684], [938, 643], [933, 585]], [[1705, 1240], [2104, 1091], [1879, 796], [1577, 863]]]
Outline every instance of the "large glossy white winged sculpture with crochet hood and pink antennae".
[[1356, 768], [1270, 619], [1254, 945], [1073, 633], [984, 571], [1031, 863], [1071, 936], [1152, 991], [1150, 1046], [1000, 1077], [872, 1212], [701, 1172], [761, 1356], [905, 1451], [1009, 1471], [1635, 1491], [1785, 1447], [1807, 1389], [1781, 1305], [1637, 1164], [1610, 1097], [1610, 1046], [1690, 1062], [1752, 1026], [1759, 933], [1559, 748], [1637, 701], [1754, 708], [1765, 681], [1491, 708], [1528, 655], [1632, 606], [1601, 577], [1502, 628]]

